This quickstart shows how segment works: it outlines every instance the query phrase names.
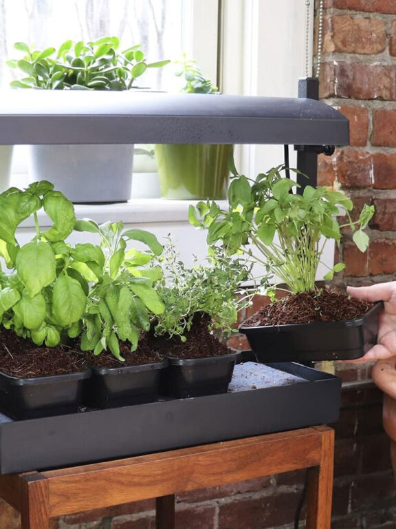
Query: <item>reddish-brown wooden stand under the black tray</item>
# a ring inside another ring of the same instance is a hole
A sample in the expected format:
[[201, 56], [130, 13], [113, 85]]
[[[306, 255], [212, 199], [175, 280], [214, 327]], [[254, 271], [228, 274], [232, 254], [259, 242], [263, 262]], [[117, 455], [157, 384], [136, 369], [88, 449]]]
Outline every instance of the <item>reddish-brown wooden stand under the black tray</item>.
[[[157, 498], [157, 529], [175, 528], [175, 493], [308, 468], [307, 529], [330, 529], [334, 435], [327, 426], [117, 461], [0, 477], [22, 529], [50, 519]], [[106, 491], [105, 493], [100, 491]]]

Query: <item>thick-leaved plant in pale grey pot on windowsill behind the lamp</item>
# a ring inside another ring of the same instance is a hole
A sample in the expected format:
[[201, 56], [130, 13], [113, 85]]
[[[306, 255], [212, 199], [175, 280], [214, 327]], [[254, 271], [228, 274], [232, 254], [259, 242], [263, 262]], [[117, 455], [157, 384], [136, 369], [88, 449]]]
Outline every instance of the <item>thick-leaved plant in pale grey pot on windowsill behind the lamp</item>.
[[[95, 42], [66, 41], [54, 48], [33, 51], [25, 43], [15, 48], [25, 55], [8, 61], [25, 76], [15, 88], [39, 90], [131, 90], [148, 63], [140, 45], [119, 50], [117, 37]], [[125, 202], [131, 198], [133, 145], [33, 145], [33, 180], [47, 179], [74, 203]]]

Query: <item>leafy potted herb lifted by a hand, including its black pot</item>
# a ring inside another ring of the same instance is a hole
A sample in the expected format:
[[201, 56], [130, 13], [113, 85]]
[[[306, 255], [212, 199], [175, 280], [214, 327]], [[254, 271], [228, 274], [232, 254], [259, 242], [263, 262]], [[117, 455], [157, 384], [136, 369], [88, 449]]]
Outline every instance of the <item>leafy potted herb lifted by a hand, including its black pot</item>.
[[[380, 305], [317, 289], [315, 280], [324, 244], [329, 239], [339, 243], [340, 228], [349, 227], [355, 244], [366, 251], [369, 237], [363, 230], [374, 209], [365, 205], [353, 221], [352, 201], [342, 191], [307, 186], [303, 194], [294, 194], [298, 184], [283, 178], [282, 169], [275, 167], [250, 180], [232, 167], [228, 211], [202, 202], [197, 210], [190, 207], [190, 220], [208, 229], [209, 244], [222, 241], [230, 255], [247, 253], [265, 267], [272, 282], [278, 278], [289, 287], [290, 295], [276, 302], [274, 286], [267, 288], [265, 276], [262, 284], [273, 303], [240, 329], [261, 361], [360, 357], [375, 343]], [[336, 220], [339, 209], [347, 212], [347, 225]], [[342, 269], [344, 264], [338, 262], [325, 279]]]

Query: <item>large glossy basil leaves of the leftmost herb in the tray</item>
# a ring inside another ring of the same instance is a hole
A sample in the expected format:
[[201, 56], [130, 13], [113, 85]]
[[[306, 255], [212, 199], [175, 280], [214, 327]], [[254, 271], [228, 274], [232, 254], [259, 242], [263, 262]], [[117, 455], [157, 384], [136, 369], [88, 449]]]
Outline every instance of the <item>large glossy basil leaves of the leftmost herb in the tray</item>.
[[[0, 276], [0, 321], [17, 335], [50, 347], [65, 335], [81, 333], [88, 291], [74, 269], [78, 256], [65, 243], [76, 221], [74, 207], [53, 187], [42, 181], [0, 195], [0, 255], [10, 269]], [[53, 222], [46, 231], [37, 217], [42, 207]], [[15, 231], [31, 215], [36, 234], [20, 247]]]

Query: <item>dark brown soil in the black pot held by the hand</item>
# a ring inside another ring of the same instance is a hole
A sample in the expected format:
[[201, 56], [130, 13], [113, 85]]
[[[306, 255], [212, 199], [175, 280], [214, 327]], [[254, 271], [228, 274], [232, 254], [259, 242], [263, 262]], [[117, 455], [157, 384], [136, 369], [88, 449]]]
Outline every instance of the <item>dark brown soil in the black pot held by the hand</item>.
[[347, 294], [327, 290], [304, 292], [266, 305], [243, 326], [341, 322], [360, 318], [371, 307], [372, 303], [349, 298]]

